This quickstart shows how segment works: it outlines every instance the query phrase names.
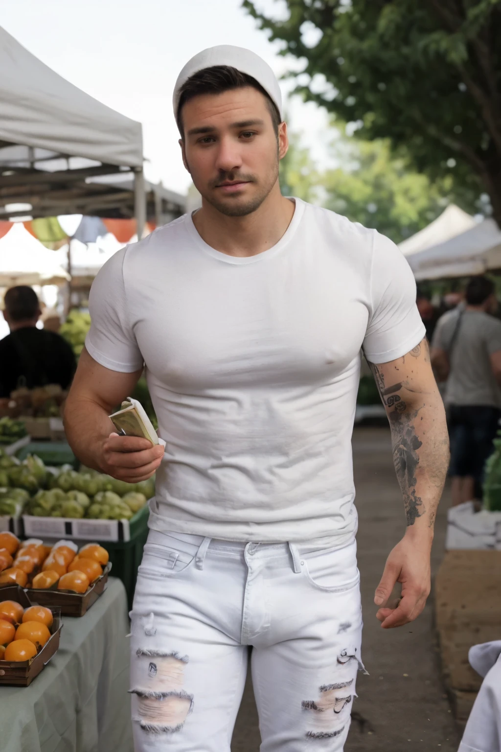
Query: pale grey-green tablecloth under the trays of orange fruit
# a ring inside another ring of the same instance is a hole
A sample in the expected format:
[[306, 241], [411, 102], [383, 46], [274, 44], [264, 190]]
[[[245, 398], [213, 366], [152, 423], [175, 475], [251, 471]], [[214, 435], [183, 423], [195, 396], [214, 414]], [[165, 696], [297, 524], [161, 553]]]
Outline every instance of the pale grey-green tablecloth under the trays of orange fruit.
[[131, 752], [125, 588], [110, 578], [29, 687], [0, 686], [2, 752]]

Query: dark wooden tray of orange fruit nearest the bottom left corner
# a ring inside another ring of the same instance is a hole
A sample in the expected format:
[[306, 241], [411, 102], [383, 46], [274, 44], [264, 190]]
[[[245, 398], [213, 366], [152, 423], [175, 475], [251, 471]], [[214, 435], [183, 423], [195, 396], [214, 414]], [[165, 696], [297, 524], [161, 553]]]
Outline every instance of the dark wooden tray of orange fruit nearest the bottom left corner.
[[[25, 591], [19, 585], [6, 585], [0, 589], [0, 598], [5, 601], [16, 601], [23, 608], [33, 605]], [[50, 607], [49, 607], [50, 608]], [[62, 630], [61, 609], [50, 608], [54, 620], [50, 627], [50, 639], [44, 644], [40, 652], [30, 660], [8, 661], [0, 660], [0, 686], [5, 684], [17, 687], [28, 687], [33, 679], [47, 666], [59, 647], [59, 635]]]

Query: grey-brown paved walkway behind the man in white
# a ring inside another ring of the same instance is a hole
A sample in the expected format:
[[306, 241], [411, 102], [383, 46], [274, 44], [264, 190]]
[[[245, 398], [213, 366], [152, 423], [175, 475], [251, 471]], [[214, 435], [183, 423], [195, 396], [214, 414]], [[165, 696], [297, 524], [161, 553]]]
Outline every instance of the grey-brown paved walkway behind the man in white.
[[[433, 635], [432, 605], [399, 629], [376, 620], [373, 595], [386, 556], [405, 531], [400, 489], [391, 459], [390, 432], [358, 428], [353, 437], [357, 489], [358, 566], [364, 611], [363, 658], [346, 752], [457, 752], [459, 739], [442, 688]], [[436, 519], [433, 572], [443, 555], [448, 492]], [[260, 737], [252, 684], [247, 682], [232, 752], [258, 752]]]

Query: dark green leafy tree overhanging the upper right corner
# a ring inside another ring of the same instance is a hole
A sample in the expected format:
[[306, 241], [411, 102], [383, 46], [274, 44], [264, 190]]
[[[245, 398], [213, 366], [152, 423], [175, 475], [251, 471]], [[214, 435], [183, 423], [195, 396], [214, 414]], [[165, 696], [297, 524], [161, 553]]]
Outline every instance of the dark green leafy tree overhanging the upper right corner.
[[501, 224], [501, 0], [284, 2], [285, 20], [243, 7], [306, 60], [297, 91], [431, 180], [485, 190]]

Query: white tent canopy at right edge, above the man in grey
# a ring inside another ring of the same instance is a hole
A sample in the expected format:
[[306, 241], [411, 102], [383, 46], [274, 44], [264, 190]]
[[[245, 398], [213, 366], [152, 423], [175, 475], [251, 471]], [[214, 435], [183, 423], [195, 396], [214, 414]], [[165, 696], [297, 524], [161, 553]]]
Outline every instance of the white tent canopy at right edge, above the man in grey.
[[467, 277], [501, 268], [501, 230], [491, 219], [407, 256], [416, 280]]

